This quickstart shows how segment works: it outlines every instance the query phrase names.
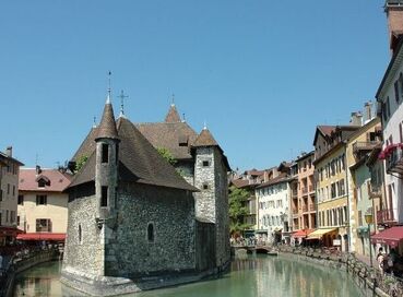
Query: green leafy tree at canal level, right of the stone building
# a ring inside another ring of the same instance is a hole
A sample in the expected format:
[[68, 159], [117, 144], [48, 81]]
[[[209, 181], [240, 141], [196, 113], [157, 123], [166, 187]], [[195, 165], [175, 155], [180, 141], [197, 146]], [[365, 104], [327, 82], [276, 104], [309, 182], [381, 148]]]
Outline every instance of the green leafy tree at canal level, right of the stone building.
[[242, 233], [251, 227], [250, 224], [244, 223], [244, 217], [248, 214], [245, 203], [249, 195], [249, 192], [245, 189], [229, 187], [229, 231], [232, 235]]

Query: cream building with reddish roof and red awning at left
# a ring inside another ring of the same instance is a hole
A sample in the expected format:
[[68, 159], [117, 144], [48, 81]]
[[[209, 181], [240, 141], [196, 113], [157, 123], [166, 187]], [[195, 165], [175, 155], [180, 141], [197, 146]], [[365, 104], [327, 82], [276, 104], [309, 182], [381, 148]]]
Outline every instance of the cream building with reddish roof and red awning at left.
[[22, 168], [19, 182], [19, 228], [22, 240], [64, 240], [71, 176], [63, 169]]

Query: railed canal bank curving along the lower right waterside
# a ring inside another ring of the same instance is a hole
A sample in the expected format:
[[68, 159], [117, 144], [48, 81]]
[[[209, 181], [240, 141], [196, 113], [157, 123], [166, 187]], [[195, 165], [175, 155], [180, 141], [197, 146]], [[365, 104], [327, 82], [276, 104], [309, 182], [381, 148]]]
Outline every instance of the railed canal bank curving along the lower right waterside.
[[364, 296], [403, 296], [403, 284], [392, 275], [382, 275], [351, 253], [331, 253], [320, 249], [280, 247], [280, 254], [295, 257], [317, 265], [346, 272]]

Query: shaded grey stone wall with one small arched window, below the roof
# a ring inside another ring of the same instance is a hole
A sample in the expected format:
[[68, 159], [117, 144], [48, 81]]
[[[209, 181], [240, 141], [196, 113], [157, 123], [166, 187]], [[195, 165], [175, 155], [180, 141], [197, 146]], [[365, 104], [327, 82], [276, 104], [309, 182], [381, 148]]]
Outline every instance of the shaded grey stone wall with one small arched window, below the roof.
[[[105, 237], [107, 275], [138, 277], [195, 269], [191, 192], [120, 185], [117, 211], [117, 228]], [[153, 241], [149, 224], [154, 226]]]

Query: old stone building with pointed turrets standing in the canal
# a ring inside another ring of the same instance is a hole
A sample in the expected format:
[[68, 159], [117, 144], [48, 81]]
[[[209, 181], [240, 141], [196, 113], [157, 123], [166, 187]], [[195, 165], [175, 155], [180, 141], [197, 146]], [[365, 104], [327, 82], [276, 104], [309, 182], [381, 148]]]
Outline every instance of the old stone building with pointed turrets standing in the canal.
[[[99, 127], [71, 163], [85, 161], [67, 189], [62, 282], [91, 295], [117, 295], [225, 269], [229, 166], [217, 142], [208, 129], [198, 135], [187, 128], [177, 112], [162, 124], [149, 124], [155, 129], [149, 134], [122, 112], [115, 121], [109, 98]], [[156, 133], [176, 140], [164, 147], [187, 180], [155, 150], [161, 146]]]

